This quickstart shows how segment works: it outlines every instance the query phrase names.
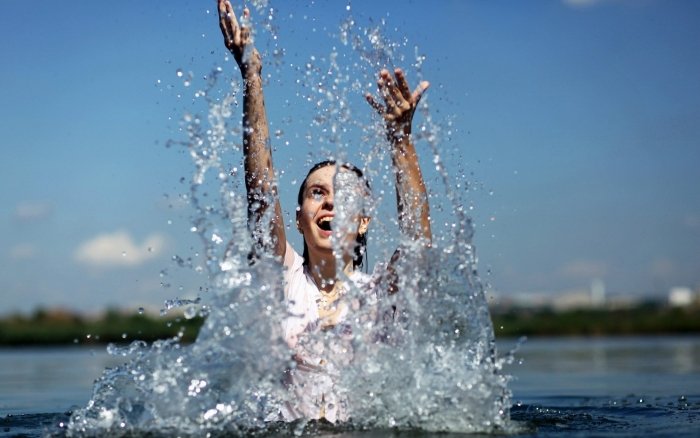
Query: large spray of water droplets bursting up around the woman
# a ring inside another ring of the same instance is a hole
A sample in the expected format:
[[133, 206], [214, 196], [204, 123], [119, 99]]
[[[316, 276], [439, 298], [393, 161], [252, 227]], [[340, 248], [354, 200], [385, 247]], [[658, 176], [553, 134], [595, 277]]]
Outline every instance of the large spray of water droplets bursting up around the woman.
[[[267, 2], [253, 6], [265, 17], [257, 28], [257, 41], [265, 36], [273, 41], [267, 55], [283, 65], [276, 45], [275, 10]], [[327, 361], [323, 378], [332, 382], [334, 400], [341, 407], [338, 427], [507, 432], [512, 427], [508, 377], [500, 373], [503, 360], [497, 358], [477, 275], [466, 203], [462, 193], [453, 190], [466, 182], [453, 184], [442, 164], [440, 123], [431, 117], [424, 99], [423, 122], [414, 127], [415, 138], [428, 145], [426, 152], [432, 154], [441, 186], [431, 187], [431, 208], [439, 205], [449, 217], [447, 226], [435, 227], [433, 246], [425, 248], [397, 235], [395, 212], [385, 213], [391, 211], [384, 205], [393, 201], [388, 196], [393, 175], [381, 121], [363, 121], [348, 104], [381, 68], [397, 63], [420, 72], [425, 57], [416, 52], [407, 62], [402, 55], [406, 41], [387, 41], [384, 25], [362, 27], [348, 15], [338, 31], [339, 46], [329, 56], [312, 56], [297, 70], [296, 82], [302, 90], [298, 97], [315, 110], [308, 124], [314, 150], [322, 156], [333, 151], [343, 162], [350, 155], [349, 145], [366, 145], [359, 158], [372, 181], [371, 196], [353, 172], [336, 173], [336, 252], [342, 253], [342, 236], [358, 214], [372, 216], [368, 246], [378, 254], [375, 258], [388, 260], [400, 248], [401, 257], [393, 265], [398, 278], [393, 286], [399, 293], [389, 294], [390, 285], [378, 275], [370, 277], [377, 279], [370, 290], [346, 278], [342, 300], [349, 316], [334, 330], [304, 333], [301, 348]], [[192, 345], [181, 345], [175, 338], [152, 346], [141, 342], [110, 346], [110, 353], [130, 361], [106, 370], [96, 382], [88, 405], [71, 417], [71, 436], [314, 430], [313, 423], [304, 419], [292, 424], [280, 421], [283, 407], [298, 402], [284, 378], [285, 371], [297, 364], [281, 328], [288, 316], [282, 267], [264, 254], [250, 263], [253, 242], [246, 195], [240, 172], [227, 164], [237, 160], [225, 158], [241, 153], [241, 115], [235, 111], [240, 89], [233, 83], [226, 87], [226, 97], [212, 97], [221, 76], [221, 69], [207, 75], [195, 92], [206, 102], [207, 113], [186, 114], [182, 121], [186, 138], [171, 142], [185, 148], [194, 164], [187, 198], [194, 211], [192, 231], [203, 251], [201, 263], [192, 265], [209, 284], [200, 299], [174, 300], [166, 307], [198, 309], [206, 316], [204, 326]], [[314, 158], [314, 154], [308, 157]], [[378, 262], [373, 272], [385, 268]], [[193, 313], [189, 310], [189, 316]]]

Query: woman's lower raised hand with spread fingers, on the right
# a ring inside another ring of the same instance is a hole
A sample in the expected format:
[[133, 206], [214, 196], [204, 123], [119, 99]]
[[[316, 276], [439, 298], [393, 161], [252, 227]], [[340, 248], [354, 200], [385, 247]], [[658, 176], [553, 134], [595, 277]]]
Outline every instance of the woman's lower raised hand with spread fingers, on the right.
[[372, 108], [384, 118], [387, 138], [391, 141], [398, 141], [411, 133], [413, 113], [416, 111], [418, 102], [425, 90], [430, 86], [430, 83], [422, 81], [411, 92], [406, 77], [400, 68], [394, 70], [394, 76], [396, 80], [391, 77], [391, 74], [386, 69], [379, 72], [377, 87], [385, 105], [377, 102], [370, 93], [367, 93], [365, 98]]

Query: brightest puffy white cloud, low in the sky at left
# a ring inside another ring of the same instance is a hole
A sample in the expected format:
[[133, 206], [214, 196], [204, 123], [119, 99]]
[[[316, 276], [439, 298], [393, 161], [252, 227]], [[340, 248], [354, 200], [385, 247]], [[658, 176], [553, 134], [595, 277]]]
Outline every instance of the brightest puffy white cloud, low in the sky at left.
[[165, 249], [165, 237], [151, 234], [138, 244], [126, 231], [99, 234], [83, 242], [74, 253], [80, 263], [102, 267], [137, 266], [157, 257]]

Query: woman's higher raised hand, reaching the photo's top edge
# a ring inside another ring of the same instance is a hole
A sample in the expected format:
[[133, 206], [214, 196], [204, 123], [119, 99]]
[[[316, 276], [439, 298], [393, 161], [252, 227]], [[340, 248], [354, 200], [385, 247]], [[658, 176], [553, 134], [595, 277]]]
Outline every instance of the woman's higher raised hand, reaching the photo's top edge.
[[[233, 55], [243, 75], [249, 71], [260, 73], [262, 69], [260, 54], [253, 47], [250, 28], [239, 24], [230, 1], [218, 0], [218, 2], [219, 27], [221, 28], [226, 48]], [[249, 17], [250, 11], [246, 8], [243, 10], [244, 21], [248, 21]]]

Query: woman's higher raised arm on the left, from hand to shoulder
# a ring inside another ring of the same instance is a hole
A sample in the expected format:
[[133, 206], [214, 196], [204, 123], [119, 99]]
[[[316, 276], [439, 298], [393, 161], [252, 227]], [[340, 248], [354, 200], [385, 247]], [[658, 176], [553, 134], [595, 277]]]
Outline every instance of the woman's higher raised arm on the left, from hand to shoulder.
[[[284, 259], [287, 239], [272, 167], [270, 134], [262, 89], [262, 59], [252, 44], [250, 29], [239, 25], [228, 0], [218, 0], [224, 43], [243, 78], [243, 156], [248, 195], [248, 223], [256, 248]], [[248, 18], [248, 10], [243, 17]], [[268, 214], [273, 208], [272, 214]], [[269, 218], [269, 223], [265, 219]]]

